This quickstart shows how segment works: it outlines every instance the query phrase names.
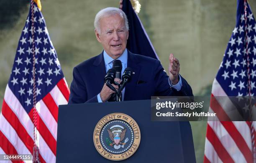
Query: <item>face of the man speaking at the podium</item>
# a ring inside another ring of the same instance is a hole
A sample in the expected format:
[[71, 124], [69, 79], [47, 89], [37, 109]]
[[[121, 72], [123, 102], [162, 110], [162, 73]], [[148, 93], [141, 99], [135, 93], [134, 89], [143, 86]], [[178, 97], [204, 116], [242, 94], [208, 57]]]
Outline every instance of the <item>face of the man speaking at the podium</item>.
[[115, 14], [100, 19], [100, 33], [95, 30], [95, 35], [106, 53], [117, 59], [126, 48], [129, 32], [125, 28], [125, 21]]

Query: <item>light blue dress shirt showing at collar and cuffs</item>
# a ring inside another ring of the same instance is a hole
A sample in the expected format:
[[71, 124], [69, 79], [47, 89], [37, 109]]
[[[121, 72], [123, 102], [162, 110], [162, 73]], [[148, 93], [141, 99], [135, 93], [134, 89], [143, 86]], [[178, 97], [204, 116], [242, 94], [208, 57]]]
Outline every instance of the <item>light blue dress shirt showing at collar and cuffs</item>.
[[[106, 51], [103, 51], [103, 57], [104, 57], [104, 61], [105, 61], [105, 67], [106, 67], [106, 72], [108, 72], [109, 69], [111, 69], [113, 67], [113, 58], [111, 58]], [[127, 68], [127, 60], [128, 60], [128, 52], [127, 49], [125, 48], [125, 51], [123, 52], [123, 54], [118, 58], [118, 60], [120, 60], [122, 62], [122, 72], [121, 74], [123, 74], [123, 71]], [[179, 76], [179, 82], [176, 85], [173, 85], [171, 80], [168, 78], [168, 82], [170, 87], [173, 87], [174, 89], [176, 89], [177, 91], [179, 91], [182, 87], [182, 78]], [[125, 88], [122, 91], [122, 101], [124, 99], [124, 92], [125, 92]], [[97, 95], [97, 99], [98, 102], [102, 102], [102, 99], [100, 98], [100, 93]]]

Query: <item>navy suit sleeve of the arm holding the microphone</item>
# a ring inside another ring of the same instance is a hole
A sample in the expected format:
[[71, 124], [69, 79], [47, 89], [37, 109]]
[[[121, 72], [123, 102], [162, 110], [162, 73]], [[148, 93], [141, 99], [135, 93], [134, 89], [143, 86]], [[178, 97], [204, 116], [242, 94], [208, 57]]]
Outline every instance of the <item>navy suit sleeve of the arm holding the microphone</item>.
[[86, 84], [84, 83], [76, 67], [73, 69], [73, 81], [70, 86], [70, 95], [68, 104], [81, 104], [84, 102], [98, 102], [97, 95], [87, 99]]

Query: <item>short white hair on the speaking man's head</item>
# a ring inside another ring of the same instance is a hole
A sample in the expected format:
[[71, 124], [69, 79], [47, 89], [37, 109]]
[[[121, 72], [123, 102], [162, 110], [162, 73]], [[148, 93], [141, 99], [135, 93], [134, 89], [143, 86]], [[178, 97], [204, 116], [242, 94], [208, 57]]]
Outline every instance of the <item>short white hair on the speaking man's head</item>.
[[123, 12], [123, 10], [120, 10], [119, 8], [113, 8], [113, 7], [103, 8], [102, 10], [100, 10], [96, 14], [95, 19], [94, 19], [94, 28], [95, 28], [95, 30], [97, 30], [97, 32], [100, 33], [100, 19], [101, 18], [105, 18], [105, 17], [111, 16], [111, 15], [115, 15], [115, 14], [120, 15], [120, 17], [123, 20], [125, 20], [125, 28], [127, 30], [129, 30], [127, 16]]

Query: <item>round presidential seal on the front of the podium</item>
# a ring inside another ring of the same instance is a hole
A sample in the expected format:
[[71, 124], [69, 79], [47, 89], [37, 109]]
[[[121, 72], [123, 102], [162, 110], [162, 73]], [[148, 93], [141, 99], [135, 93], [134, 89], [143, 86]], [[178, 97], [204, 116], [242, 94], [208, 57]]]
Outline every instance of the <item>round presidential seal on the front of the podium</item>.
[[138, 149], [141, 132], [128, 115], [112, 113], [103, 117], [93, 132], [97, 151], [109, 160], [125, 160]]

